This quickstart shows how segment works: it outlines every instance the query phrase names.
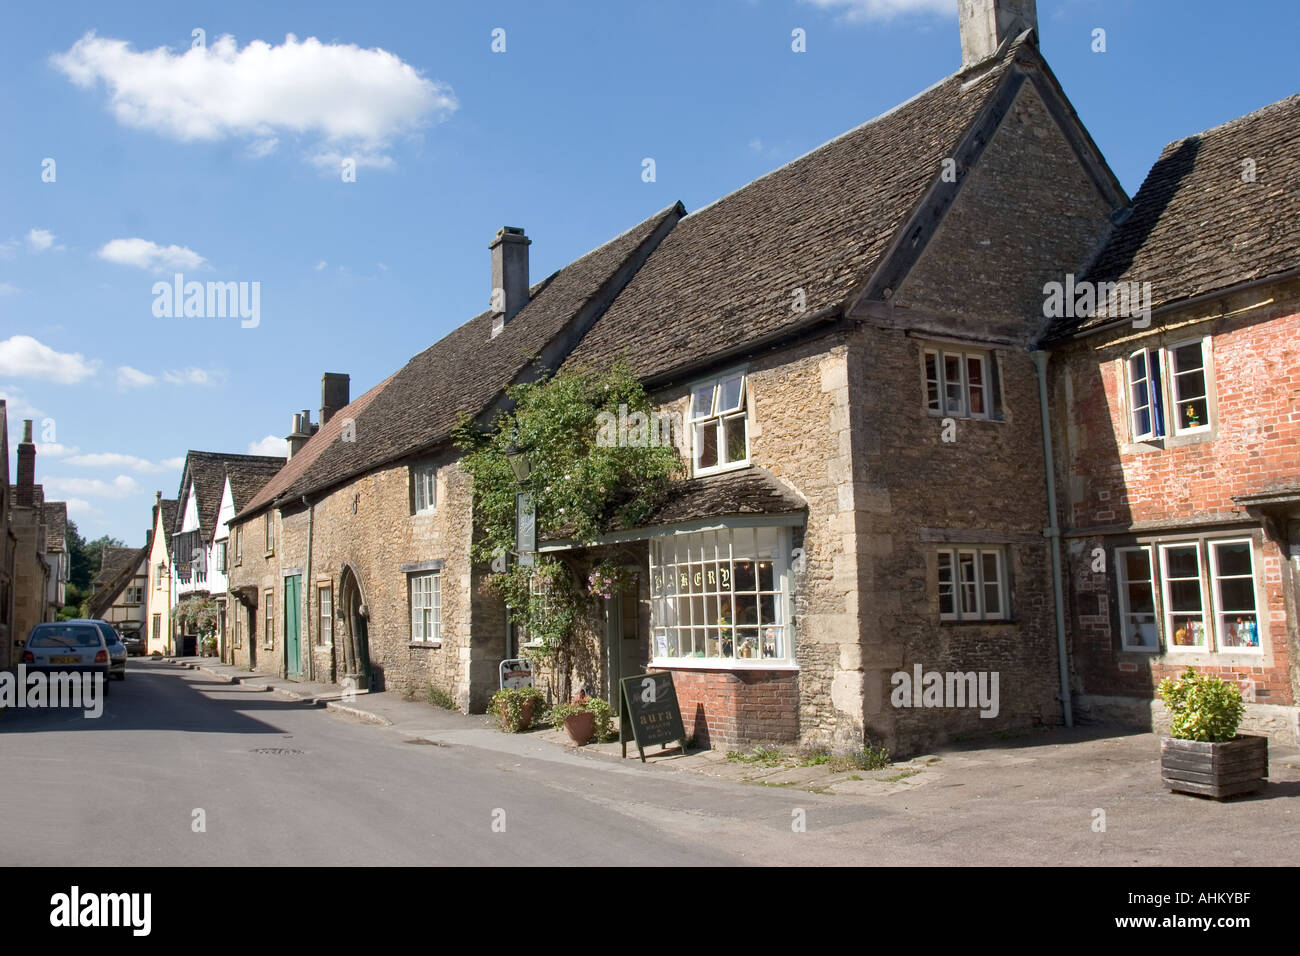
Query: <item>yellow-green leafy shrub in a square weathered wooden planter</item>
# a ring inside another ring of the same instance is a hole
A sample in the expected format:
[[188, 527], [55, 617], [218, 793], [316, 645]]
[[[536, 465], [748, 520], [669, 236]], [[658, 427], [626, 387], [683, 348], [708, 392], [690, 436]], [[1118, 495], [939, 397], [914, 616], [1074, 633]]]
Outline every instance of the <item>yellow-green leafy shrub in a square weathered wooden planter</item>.
[[1238, 734], [1245, 714], [1242, 689], [1188, 667], [1160, 682], [1170, 736], [1160, 743], [1160, 775], [1179, 793], [1222, 799], [1264, 788], [1269, 739]]

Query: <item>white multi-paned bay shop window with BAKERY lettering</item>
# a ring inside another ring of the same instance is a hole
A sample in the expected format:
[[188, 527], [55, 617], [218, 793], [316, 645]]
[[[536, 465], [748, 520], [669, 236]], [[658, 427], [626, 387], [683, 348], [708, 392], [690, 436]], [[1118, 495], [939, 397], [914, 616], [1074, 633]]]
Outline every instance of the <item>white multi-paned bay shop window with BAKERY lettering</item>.
[[653, 538], [650, 624], [655, 665], [793, 665], [790, 529]]

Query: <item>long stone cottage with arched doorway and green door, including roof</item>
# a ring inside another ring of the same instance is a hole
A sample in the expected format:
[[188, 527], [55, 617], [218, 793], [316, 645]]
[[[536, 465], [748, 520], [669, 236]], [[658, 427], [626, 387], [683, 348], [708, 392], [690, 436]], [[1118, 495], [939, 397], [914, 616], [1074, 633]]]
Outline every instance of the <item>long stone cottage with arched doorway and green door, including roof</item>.
[[[530, 284], [530, 239], [490, 245], [491, 308], [350, 402], [322, 381], [312, 429], [230, 520], [230, 610], [239, 665], [291, 678], [425, 691], [482, 710], [506, 656], [506, 615], [469, 559], [460, 418], [491, 420], [504, 389], [559, 367], [681, 216], [675, 204]], [[242, 544], [240, 544], [242, 542]], [[256, 635], [256, 636], [255, 636]]]

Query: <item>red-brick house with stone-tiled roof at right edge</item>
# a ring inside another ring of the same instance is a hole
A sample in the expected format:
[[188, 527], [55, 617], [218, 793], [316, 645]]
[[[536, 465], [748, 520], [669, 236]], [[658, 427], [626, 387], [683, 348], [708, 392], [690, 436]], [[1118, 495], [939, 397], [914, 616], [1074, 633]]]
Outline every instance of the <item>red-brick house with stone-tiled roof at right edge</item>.
[[1294, 744], [1300, 96], [1165, 147], [1078, 287], [1101, 284], [1143, 311], [1106, 286], [1048, 339], [1078, 708], [1158, 724], [1191, 665]]

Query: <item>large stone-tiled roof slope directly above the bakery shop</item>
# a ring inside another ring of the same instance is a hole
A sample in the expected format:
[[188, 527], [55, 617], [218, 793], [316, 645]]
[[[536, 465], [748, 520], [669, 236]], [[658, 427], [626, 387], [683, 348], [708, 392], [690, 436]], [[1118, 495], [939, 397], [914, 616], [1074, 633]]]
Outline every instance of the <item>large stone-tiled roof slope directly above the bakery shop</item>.
[[568, 363], [654, 377], [849, 304], [1030, 36], [682, 219]]

